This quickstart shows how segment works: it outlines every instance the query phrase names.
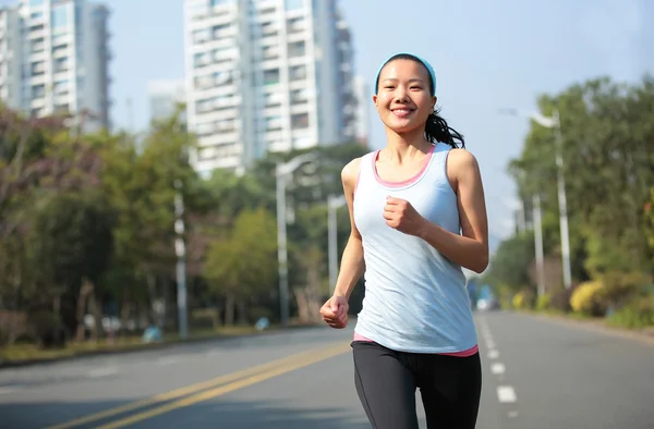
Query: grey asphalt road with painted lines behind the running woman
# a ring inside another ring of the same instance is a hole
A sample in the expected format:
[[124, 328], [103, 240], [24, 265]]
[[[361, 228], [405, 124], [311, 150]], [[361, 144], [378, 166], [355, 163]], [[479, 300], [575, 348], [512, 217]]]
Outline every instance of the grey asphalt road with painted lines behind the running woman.
[[[477, 428], [654, 428], [654, 343], [524, 315], [476, 321]], [[0, 428], [370, 428], [351, 335], [312, 328], [0, 370]]]

